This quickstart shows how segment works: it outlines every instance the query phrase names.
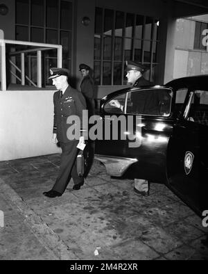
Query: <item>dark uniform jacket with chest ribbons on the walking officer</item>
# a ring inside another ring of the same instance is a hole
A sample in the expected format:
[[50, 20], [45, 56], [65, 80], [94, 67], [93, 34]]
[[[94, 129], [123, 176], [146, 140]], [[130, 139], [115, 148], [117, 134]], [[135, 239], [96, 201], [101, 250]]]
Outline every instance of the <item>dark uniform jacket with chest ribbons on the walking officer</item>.
[[67, 118], [70, 115], [77, 115], [80, 118], [81, 129], [83, 124], [83, 110], [86, 110], [86, 102], [82, 93], [68, 86], [64, 95], [61, 97], [60, 90], [53, 95], [54, 117], [53, 117], [53, 133], [57, 134], [57, 139], [62, 143], [69, 143], [67, 138]]

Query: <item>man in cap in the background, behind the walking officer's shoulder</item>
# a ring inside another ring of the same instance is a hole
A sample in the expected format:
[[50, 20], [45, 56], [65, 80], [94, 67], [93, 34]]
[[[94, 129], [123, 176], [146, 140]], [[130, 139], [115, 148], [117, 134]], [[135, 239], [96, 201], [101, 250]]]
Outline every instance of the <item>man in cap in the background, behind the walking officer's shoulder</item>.
[[94, 115], [94, 81], [92, 76], [89, 74], [90, 70], [89, 65], [80, 64], [80, 72], [83, 76], [83, 81], [80, 84], [80, 90], [85, 97], [89, 117]]

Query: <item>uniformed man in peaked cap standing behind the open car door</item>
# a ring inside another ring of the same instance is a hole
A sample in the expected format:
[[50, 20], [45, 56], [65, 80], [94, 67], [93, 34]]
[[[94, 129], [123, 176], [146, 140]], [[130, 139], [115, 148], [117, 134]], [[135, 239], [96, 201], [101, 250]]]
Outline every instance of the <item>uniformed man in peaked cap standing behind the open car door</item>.
[[[132, 86], [138, 87], [153, 86], [153, 83], [146, 80], [143, 76], [144, 72], [146, 72], [148, 69], [149, 67], [147, 65], [126, 61], [126, 77], [128, 79], [128, 83], [132, 83]], [[152, 98], [150, 98], [150, 100], [151, 99]], [[143, 98], [142, 95], [139, 95], [138, 97], [138, 93], [135, 92], [134, 94], [134, 92], [132, 92], [132, 106], [135, 113], [143, 113], [142, 110], [144, 110], [144, 100], [145, 98]], [[121, 111], [123, 111], [123, 106], [119, 103], [119, 101], [112, 100], [111, 105], [116, 106], [116, 108], [121, 108]], [[150, 104], [147, 106], [147, 108], [150, 108]], [[147, 109], [147, 111], [150, 111], [150, 109]], [[140, 195], [149, 195], [148, 180], [135, 178], [134, 191]]]

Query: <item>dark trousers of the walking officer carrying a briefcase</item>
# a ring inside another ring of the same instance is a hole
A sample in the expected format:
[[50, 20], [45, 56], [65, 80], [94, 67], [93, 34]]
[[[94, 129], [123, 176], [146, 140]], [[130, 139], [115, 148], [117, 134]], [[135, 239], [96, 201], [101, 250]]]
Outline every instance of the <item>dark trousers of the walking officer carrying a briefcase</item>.
[[53, 186], [53, 191], [64, 193], [69, 181], [72, 177], [74, 184], [84, 182], [83, 177], [80, 177], [76, 168], [76, 156], [78, 155], [78, 140], [71, 140], [69, 143], [60, 143], [62, 156], [58, 177]]

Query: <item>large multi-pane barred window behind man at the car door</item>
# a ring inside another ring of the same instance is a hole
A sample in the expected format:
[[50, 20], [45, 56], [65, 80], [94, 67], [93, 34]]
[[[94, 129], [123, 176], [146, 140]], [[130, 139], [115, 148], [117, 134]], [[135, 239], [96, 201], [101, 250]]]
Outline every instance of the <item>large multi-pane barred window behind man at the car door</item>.
[[154, 81], [159, 20], [106, 8], [95, 10], [94, 81], [125, 85], [125, 61], [148, 64], [146, 78]]

